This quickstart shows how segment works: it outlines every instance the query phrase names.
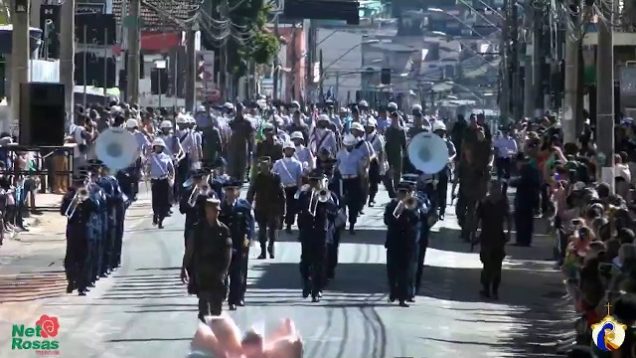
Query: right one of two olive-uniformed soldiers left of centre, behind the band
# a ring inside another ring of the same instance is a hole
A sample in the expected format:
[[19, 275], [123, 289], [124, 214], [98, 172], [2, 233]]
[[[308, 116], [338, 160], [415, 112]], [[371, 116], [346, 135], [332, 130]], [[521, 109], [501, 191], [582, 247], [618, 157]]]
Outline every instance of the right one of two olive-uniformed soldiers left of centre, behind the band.
[[243, 105], [237, 106], [236, 117], [229, 122], [229, 127], [232, 134], [228, 146], [228, 175], [245, 180], [256, 133], [252, 123], [243, 116]]

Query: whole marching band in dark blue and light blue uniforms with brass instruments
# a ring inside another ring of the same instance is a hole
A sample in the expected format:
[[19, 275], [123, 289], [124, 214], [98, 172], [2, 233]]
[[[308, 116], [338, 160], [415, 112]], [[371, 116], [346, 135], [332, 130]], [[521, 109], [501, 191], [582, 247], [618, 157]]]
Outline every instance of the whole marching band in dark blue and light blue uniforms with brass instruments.
[[[335, 277], [343, 229], [348, 223], [348, 232], [356, 233], [364, 207], [375, 204], [384, 183], [392, 198], [384, 213], [389, 300], [408, 307], [420, 289], [430, 227], [444, 215], [456, 152], [441, 121], [429, 128], [443, 139], [443, 148], [417, 136], [429, 130], [426, 126], [410, 128], [405, 136], [395, 103], [379, 120], [367, 107], [360, 103], [344, 121], [333, 112], [317, 115], [313, 128], [295, 113], [290, 135], [282, 136], [275, 119], [255, 125], [242, 106], [226, 106], [235, 118], [216, 120], [213, 133], [216, 147], [227, 148], [227, 163], [220, 156], [208, 160], [204, 148], [211, 139], [205, 133], [210, 131], [198, 131], [189, 115], [176, 116], [177, 130], [171, 121], [161, 121], [156, 135], [128, 119], [125, 133], [134, 139], [134, 160], [119, 165], [113, 164], [117, 158], [100, 158], [103, 163], [91, 163], [74, 178], [74, 189], [64, 198], [69, 292], [85, 295], [120, 265], [125, 211], [145, 182], [153, 225], [162, 229], [175, 203], [185, 216], [181, 277], [188, 292], [199, 297], [200, 317], [219, 313], [226, 297], [230, 310], [244, 306], [250, 247], [258, 242], [258, 259], [273, 259], [279, 230], [291, 234], [295, 224], [302, 297], [319, 302]], [[256, 141], [259, 133], [262, 140]], [[421, 162], [429, 158], [405, 155], [411, 146], [443, 151], [443, 163], [436, 163], [442, 169], [422, 174], [430, 163]], [[403, 167], [415, 174], [402, 176]], [[218, 240], [206, 241], [214, 235]], [[217, 261], [208, 262], [212, 259]]]

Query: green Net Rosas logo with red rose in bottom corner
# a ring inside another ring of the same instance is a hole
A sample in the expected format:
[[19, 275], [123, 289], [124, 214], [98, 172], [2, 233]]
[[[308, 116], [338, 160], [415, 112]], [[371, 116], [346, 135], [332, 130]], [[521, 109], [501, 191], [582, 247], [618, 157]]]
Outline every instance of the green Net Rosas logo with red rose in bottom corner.
[[55, 339], [60, 330], [60, 323], [55, 316], [43, 314], [35, 322], [34, 327], [14, 324], [11, 331], [11, 349], [36, 350], [38, 353], [51, 354], [60, 348]]

